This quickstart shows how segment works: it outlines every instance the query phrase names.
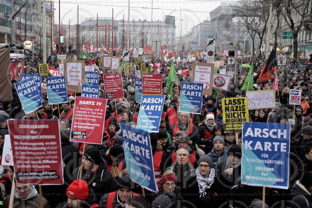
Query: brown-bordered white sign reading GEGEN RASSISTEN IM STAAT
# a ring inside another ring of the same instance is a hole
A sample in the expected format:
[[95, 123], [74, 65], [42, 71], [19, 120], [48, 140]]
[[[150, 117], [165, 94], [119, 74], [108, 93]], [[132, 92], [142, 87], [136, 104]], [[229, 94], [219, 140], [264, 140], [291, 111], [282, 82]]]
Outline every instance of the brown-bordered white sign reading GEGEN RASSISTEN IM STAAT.
[[192, 62], [192, 81], [203, 83], [203, 94], [211, 95], [213, 80], [213, 63]]

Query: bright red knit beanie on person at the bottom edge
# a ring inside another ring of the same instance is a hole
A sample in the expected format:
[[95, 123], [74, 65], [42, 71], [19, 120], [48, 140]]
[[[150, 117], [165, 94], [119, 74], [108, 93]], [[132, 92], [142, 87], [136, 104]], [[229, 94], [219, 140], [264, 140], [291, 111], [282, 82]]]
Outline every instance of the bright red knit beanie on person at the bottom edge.
[[74, 180], [66, 190], [67, 196], [85, 200], [89, 195], [89, 188], [85, 180]]

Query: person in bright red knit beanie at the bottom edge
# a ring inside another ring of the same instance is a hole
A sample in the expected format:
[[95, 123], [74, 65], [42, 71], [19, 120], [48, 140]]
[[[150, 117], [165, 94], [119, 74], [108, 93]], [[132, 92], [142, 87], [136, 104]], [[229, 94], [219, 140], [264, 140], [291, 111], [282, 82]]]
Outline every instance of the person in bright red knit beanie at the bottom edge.
[[59, 203], [55, 208], [97, 208], [96, 197], [84, 180], [74, 180], [66, 189], [67, 201]]

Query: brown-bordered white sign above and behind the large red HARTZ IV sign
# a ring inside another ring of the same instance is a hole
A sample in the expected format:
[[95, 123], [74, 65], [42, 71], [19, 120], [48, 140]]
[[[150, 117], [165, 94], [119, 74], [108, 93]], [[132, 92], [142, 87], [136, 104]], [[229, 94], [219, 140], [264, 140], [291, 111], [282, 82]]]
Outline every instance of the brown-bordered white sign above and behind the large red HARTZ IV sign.
[[69, 91], [81, 92], [81, 84], [84, 83], [84, 66], [83, 60], [64, 60], [64, 75], [66, 86]]

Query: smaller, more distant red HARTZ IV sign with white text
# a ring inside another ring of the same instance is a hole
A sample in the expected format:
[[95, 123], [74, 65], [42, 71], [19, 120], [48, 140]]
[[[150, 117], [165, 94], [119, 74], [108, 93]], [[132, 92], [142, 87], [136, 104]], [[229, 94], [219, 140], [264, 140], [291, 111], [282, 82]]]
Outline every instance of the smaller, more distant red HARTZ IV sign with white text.
[[103, 74], [103, 80], [107, 99], [123, 98], [121, 73]]

